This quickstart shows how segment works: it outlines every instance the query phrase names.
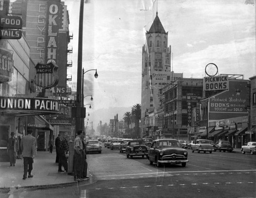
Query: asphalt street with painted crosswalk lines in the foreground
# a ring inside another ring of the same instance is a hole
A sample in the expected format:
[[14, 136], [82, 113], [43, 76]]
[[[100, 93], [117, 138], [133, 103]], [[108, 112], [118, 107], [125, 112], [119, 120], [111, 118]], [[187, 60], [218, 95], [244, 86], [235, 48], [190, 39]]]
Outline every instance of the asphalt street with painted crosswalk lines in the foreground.
[[156, 167], [103, 147], [101, 154], [88, 155], [91, 184], [12, 197], [256, 197], [256, 155], [188, 150], [188, 160], [186, 167]]

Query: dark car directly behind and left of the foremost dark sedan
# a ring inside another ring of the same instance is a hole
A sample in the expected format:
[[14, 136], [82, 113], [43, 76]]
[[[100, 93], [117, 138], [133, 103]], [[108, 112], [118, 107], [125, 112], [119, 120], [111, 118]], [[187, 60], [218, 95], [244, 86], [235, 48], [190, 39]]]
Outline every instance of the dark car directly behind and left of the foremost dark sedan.
[[125, 148], [126, 157], [133, 158], [134, 156], [147, 156], [147, 146], [143, 140], [131, 140]]

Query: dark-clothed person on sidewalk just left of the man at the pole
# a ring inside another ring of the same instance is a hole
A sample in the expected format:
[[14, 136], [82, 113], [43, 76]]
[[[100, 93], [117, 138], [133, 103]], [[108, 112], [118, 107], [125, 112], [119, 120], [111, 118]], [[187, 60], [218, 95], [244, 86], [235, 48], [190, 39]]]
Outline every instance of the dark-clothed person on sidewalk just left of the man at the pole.
[[[59, 167], [58, 172], [68, 172], [68, 160], [66, 157], [66, 153], [69, 151], [69, 142], [66, 139], [66, 137], [63, 137], [63, 139], [60, 142], [59, 146]], [[62, 170], [62, 166], [64, 167], [64, 170]]]

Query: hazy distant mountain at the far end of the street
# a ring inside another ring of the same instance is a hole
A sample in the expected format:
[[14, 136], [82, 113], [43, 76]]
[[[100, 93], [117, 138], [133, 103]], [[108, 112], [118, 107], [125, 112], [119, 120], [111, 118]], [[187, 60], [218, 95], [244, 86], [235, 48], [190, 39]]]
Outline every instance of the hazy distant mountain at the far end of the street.
[[[89, 121], [94, 122], [94, 128], [99, 124], [100, 120], [102, 121], [102, 124], [109, 124], [111, 119], [114, 119], [114, 117], [118, 114], [118, 120], [123, 119], [123, 115], [125, 112], [131, 112], [131, 107], [110, 107], [110, 108], [101, 108], [98, 109], [92, 113], [90, 113]], [[90, 110], [89, 110], [90, 112]]]

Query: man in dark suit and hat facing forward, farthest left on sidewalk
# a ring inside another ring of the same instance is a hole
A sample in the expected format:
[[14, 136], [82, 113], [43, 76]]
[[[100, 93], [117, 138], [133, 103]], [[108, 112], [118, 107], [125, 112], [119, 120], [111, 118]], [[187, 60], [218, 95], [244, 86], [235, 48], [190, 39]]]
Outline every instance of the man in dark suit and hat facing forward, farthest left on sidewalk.
[[15, 133], [11, 133], [11, 138], [8, 140], [7, 149], [9, 152], [10, 166], [15, 166], [16, 153], [18, 150], [18, 139], [14, 137]]

